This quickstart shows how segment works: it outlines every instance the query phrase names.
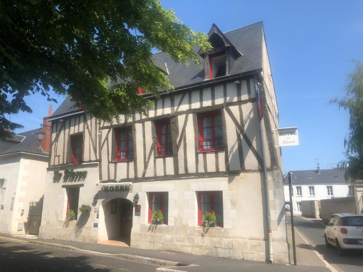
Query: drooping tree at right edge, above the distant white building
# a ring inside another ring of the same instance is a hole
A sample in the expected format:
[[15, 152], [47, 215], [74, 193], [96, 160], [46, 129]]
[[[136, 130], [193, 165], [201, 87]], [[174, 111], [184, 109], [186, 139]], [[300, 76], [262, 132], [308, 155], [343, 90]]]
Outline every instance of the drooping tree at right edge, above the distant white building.
[[345, 169], [347, 182], [363, 179], [363, 64], [352, 62], [355, 68], [347, 76], [344, 97], [330, 100], [331, 104], [349, 111], [349, 132], [344, 138], [345, 159], [338, 165], [341, 170]]

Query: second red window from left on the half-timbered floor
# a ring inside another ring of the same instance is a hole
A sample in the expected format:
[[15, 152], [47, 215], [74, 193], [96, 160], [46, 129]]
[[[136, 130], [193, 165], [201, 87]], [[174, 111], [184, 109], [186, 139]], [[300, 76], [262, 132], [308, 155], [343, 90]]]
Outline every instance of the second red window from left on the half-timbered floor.
[[125, 161], [134, 158], [134, 142], [132, 140], [132, 127], [115, 129], [116, 160]]

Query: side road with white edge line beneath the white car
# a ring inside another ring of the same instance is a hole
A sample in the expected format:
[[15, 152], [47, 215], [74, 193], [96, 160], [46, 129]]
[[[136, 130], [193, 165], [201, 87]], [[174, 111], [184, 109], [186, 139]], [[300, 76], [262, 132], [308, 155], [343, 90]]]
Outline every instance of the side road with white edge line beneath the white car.
[[[286, 220], [291, 222], [290, 216]], [[319, 223], [317, 223], [319, 222]], [[363, 252], [349, 251], [345, 256], [339, 256], [335, 248], [327, 248], [324, 240], [325, 225], [322, 221], [310, 221], [294, 217], [295, 229], [302, 234], [309, 244], [323, 256], [337, 271], [355, 272], [363, 271]]]

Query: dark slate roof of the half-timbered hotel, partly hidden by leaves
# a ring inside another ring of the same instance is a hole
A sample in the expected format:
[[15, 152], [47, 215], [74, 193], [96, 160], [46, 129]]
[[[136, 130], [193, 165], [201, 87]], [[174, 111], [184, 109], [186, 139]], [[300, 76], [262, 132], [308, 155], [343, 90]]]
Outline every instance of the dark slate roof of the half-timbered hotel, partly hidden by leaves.
[[[232, 45], [242, 53], [242, 56], [234, 62], [230, 75], [262, 69], [262, 33], [262, 21], [223, 33]], [[158, 58], [152, 57], [152, 60], [156, 66], [165, 73], [168, 73], [171, 85], [178, 89], [204, 81], [204, 59], [198, 55], [198, 51], [199, 48], [195, 48], [194, 53], [201, 60], [199, 67], [192, 61], [190, 61], [189, 66], [176, 63], [169, 55], [162, 51], [154, 53]], [[67, 97], [57, 110], [54, 111], [52, 117], [76, 111], [79, 111], [79, 109]]]

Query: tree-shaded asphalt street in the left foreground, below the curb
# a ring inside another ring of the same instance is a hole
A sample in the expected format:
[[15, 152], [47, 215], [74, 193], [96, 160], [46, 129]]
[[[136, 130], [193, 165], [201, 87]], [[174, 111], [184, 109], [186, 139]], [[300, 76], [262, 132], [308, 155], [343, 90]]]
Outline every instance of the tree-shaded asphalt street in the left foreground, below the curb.
[[0, 239], [0, 271], [143, 271], [160, 267]]

